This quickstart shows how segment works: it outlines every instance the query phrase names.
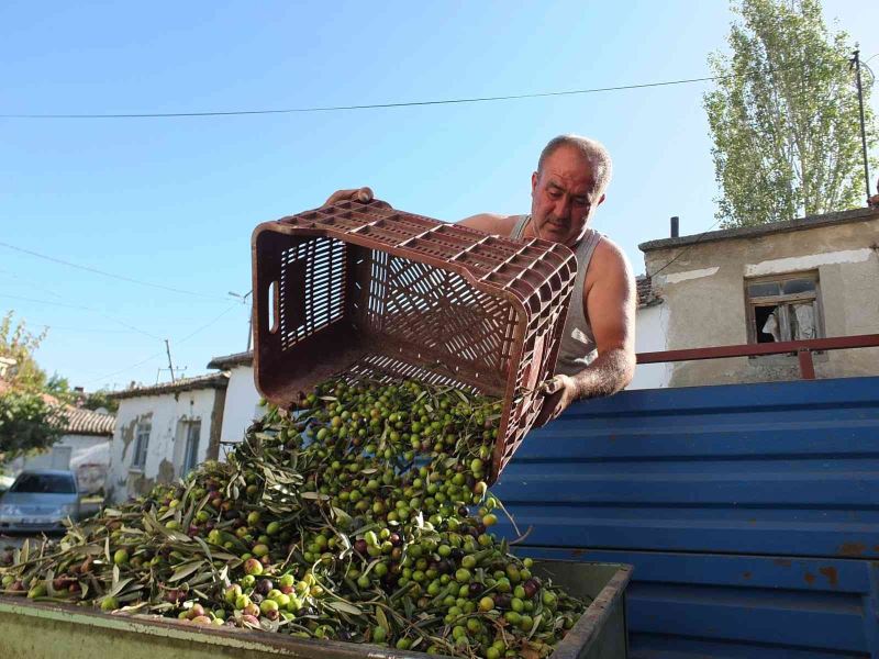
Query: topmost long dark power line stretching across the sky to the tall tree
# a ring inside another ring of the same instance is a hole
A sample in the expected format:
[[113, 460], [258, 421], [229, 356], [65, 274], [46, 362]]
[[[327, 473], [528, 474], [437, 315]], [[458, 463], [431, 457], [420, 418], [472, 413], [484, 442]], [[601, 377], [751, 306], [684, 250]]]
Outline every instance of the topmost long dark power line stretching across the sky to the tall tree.
[[[797, 65], [799, 66], [799, 65]], [[783, 68], [793, 68], [783, 67]], [[242, 116], [258, 114], [303, 114], [313, 112], [342, 112], [351, 110], [385, 110], [394, 108], [413, 108], [425, 105], [452, 105], [465, 103], [488, 103], [496, 101], [515, 101], [522, 99], [541, 99], [565, 96], [581, 96], [589, 93], [605, 93], [633, 89], [649, 89], [655, 87], [670, 87], [675, 85], [692, 85], [733, 78], [735, 74], [722, 76], [705, 76], [702, 78], [683, 78], [679, 80], [661, 80], [657, 82], [641, 82], [635, 85], [617, 85], [613, 87], [593, 87], [589, 89], [570, 89], [565, 91], [544, 91], [535, 93], [514, 93], [492, 97], [469, 97], [459, 99], [438, 99], [430, 101], [399, 101], [390, 103], [367, 103], [352, 105], [314, 105], [304, 108], [283, 108], [269, 110], [227, 110], [211, 112], [134, 112], [134, 113], [99, 113], [99, 114], [0, 114], [0, 119], [181, 119], [204, 116]]]

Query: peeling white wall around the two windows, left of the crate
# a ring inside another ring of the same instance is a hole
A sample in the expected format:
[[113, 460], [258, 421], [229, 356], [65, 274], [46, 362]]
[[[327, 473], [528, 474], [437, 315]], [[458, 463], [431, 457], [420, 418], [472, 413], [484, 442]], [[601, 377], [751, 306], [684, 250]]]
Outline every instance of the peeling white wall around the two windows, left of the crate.
[[[185, 422], [200, 421], [198, 462], [216, 458], [224, 389], [199, 389], [122, 399], [113, 432], [109, 498], [121, 502], [148, 492], [156, 483], [181, 476], [186, 446]], [[137, 424], [149, 421], [152, 431], [143, 469], [132, 468]]]

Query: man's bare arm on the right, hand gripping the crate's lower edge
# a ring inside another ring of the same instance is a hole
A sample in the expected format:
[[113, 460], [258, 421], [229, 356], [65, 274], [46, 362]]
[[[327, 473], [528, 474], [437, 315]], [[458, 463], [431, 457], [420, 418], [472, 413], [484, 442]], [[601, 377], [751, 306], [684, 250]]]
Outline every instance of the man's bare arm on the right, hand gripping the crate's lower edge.
[[[582, 304], [596, 338], [598, 357], [576, 376], [556, 376], [535, 425], [556, 418], [579, 399], [611, 395], [635, 375], [635, 279], [622, 250], [610, 241], [596, 248]], [[571, 301], [577, 303], [579, 299]]]

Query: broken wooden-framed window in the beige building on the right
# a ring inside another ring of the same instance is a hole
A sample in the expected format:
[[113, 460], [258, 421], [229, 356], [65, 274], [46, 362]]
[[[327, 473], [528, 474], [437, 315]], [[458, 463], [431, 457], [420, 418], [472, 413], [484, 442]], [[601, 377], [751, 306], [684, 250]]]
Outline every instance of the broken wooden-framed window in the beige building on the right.
[[803, 340], [823, 335], [817, 272], [745, 281], [748, 343]]

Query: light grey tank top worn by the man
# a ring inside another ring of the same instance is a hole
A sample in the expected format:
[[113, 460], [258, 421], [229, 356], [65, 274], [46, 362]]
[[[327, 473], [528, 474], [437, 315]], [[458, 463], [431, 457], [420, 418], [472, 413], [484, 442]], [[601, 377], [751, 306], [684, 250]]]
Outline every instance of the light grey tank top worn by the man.
[[[521, 238], [522, 232], [531, 221], [531, 215], [521, 215], [513, 226], [511, 238]], [[561, 334], [561, 345], [558, 347], [558, 361], [556, 362], [556, 373], [575, 376], [598, 356], [596, 351], [596, 339], [592, 328], [586, 320], [583, 309], [583, 284], [586, 282], [586, 271], [589, 269], [589, 261], [596, 246], [601, 242], [601, 234], [594, 228], [587, 228], [582, 239], [575, 247], [577, 256], [577, 278], [574, 280], [574, 293], [568, 308], [568, 315], [565, 319], [565, 328]]]

